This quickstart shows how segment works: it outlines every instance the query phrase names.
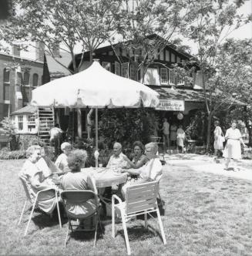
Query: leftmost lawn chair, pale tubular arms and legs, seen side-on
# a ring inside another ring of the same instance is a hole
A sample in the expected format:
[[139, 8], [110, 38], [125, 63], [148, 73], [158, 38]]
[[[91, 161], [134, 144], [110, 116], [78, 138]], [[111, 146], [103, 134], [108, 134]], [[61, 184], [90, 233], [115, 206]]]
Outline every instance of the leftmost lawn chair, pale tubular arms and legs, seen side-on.
[[[22, 182], [22, 185], [25, 189], [25, 194], [26, 194], [26, 200], [25, 200], [25, 204], [23, 206], [23, 209], [22, 209], [22, 214], [19, 218], [19, 221], [18, 221], [18, 225], [21, 223], [21, 220], [22, 220], [22, 217], [23, 217], [23, 214], [25, 213], [25, 207], [26, 207], [26, 204], [27, 202], [30, 202], [32, 204], [32, 211], [31, 211], [31, 214], [30, 214], [30, 217], [29, 217], [29, 221], [28, 221], [28, 224], [25, 228], [25, 234], [27, 234], [27, 231], [28, 231], [28, 227], [29, 227], [29, 224], [32, 220], [32, 214], [35, 210], [35, 207], [38, 207], [38, 204], [39, 204], [39, 201], [43, 198], [43, 195], [45, 195], [45, 192], [46, 194], [48, 194], [49, 191], [52, 191], [52, 197], [55, 197], [55, 205], [57, 206], [57, 211], [58, 211], [58, 217], [59, 217], [59, 227], [62, 228], [62, 224], [61, 224], [61, 218], [60, 218], [60, 212], [59, 212], [59, 197], [58, 197], [58, 191], [55, 190], [55, 188], [49, 188], [49, 189], [45, 189], [45, 190], [39, 190], [39, 192], [37, 194], [35, 194], [35, 200], [32, 200], [32, 197], [29, 193], [29, 189], [27, 187], [27, 180], [25, 180], [25, 178], [23, 177], [19, 177], [19, 179], [21, 180]], [[49, 198], [48, 198], [49, 199]], [[53, 208], [54, 209], [54, 208]], [[28, 211], [28, 210], [26, 210]]]

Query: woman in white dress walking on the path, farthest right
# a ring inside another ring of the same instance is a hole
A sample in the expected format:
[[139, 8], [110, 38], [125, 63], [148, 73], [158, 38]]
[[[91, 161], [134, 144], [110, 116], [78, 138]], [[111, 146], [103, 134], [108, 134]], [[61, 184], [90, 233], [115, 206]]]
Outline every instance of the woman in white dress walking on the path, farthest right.
[[240, 143], [242, 143], [244, 147], [247, 146], [241, 137], [240, 130], [237, 129], [237, 123], [235, 121], [233, 121], [231, 127], [227, 129], [225, 139], [227, 140], [227, 143], [223, 152], [223, 157], [227, 159], [225, 163], [225, 170], [228, 170], [231, 158], [233, 158], [235, 162], [241, 159]]

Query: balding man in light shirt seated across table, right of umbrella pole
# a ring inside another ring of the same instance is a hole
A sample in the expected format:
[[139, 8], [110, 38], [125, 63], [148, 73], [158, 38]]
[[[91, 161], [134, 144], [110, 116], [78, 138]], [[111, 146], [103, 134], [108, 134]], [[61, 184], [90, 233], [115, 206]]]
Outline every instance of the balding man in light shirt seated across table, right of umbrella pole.
[[126, 155], [122, 153], [122, 144], [114, 143], [113, 155], [109, 158], [107, 167], [112, 168], [129, 168], [129, 163], [126, 161]]

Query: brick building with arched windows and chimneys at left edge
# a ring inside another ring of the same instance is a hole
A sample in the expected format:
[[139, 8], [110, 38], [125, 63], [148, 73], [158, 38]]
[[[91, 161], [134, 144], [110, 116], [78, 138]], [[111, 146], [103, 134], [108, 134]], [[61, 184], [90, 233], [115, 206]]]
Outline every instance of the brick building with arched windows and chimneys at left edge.
[[0, 121], [27, 106], [32, 89], [42, 85], [43, 66], [42, 47], [36, 48], [35, 60], [22, 58], [18, 45], [12, 47], [12, 54], [0, 53]]

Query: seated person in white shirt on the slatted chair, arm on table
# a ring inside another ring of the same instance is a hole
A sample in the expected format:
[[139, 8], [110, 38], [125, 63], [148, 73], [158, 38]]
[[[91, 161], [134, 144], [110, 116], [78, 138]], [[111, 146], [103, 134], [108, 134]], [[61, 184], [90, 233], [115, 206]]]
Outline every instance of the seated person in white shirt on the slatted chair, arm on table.
[[130, 180], [122, 187], [123, 197], [126, 194], [126, 188], [133, 184], [142, 184], [145, 182], [150, 182], [154, 180], [158, 180], [158, 178], [162, 175], [162, 163], [158, 156], [156, 156], [158, 150], [158, 146], [156, 143], [148, 143], [145, 145], [146, 158], [147, 163], [140, 167], [139, 169], [128, 169], [122, 170], [123, 172], [127, 172], [131, 175], [139, 175], [137, 180]]

